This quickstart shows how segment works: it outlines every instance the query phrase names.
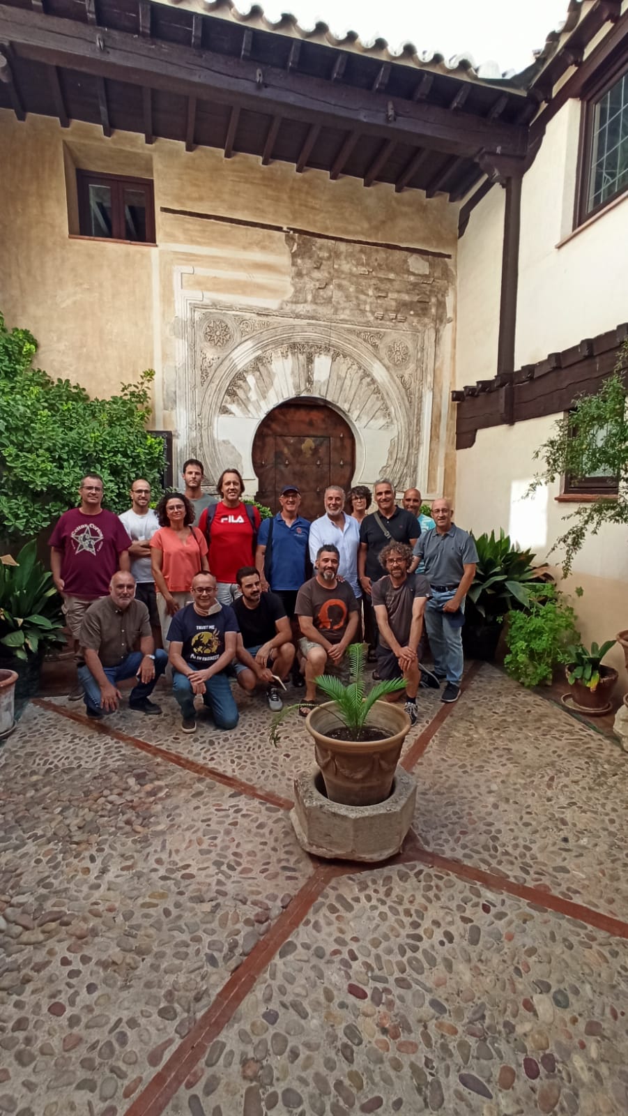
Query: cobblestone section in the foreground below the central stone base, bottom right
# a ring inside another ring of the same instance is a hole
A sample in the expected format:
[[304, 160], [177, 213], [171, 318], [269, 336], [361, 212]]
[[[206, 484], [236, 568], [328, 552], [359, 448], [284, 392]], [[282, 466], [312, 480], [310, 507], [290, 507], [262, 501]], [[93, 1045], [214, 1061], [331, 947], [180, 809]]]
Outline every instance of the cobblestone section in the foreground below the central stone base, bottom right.
[[434, 870], [334, 882], [167, 1116], [628, 1112], [628, 943]]

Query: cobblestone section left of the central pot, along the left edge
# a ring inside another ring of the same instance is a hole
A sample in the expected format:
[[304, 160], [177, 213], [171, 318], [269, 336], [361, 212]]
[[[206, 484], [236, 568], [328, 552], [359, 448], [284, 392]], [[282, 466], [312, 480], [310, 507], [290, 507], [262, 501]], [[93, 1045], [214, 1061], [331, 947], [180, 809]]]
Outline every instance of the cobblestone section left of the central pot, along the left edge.
[[0, 1113], [122, 1113], [311, 872], [287, 815], [30, 706], [0, 753]]

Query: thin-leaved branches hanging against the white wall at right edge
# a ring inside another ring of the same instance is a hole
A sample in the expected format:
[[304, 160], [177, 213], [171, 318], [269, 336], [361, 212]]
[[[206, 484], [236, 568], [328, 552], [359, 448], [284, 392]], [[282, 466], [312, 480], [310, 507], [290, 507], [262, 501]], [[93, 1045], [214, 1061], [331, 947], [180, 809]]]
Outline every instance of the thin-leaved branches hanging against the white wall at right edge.
[[628, 523], [627, 369], [628, 341], [624, 341], [613, 374], [603, 381], [595, 395], [574, 401], [571, 413], [558, 420], [554, 433], [534, 454], [543, 461], [543, 470], [534, 478], [529, 493], [564, 474], [602, 474], [619, 481], [618, 494], [612, 499], [599, 497], [563, 516], [563, 522], [571, 522], [571, 526], [557, 539], [550, 554], [559, 548], [564, 550], [564, 577], [586, 539], [597, 535], [605, 523]]

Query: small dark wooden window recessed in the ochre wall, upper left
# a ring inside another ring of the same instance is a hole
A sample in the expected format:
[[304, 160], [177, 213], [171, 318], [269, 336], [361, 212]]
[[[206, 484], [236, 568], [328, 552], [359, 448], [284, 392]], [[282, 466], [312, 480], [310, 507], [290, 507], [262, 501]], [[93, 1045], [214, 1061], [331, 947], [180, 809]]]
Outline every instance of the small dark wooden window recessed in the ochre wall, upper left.
[[155, 203], [151, 179], [77, 171], [76, 180], [83, 237], [155, 242]]

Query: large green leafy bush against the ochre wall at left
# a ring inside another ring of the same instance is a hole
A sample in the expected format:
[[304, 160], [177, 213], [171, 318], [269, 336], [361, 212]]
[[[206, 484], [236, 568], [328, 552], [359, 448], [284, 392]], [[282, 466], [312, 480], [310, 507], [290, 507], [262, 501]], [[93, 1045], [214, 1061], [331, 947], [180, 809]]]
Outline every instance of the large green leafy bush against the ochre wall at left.
[[37, 535], [78, 500], [84, 473], [100, 473], [105, 504], [128, 507], [128, 489], [144, 477], [161, 490], [164, 448], [146, 433], [154, 372], [119, 395], [90, 398], [84, 387], [31, 367], [37, 341], [8, 330], [0, 315], [0, 536]]

